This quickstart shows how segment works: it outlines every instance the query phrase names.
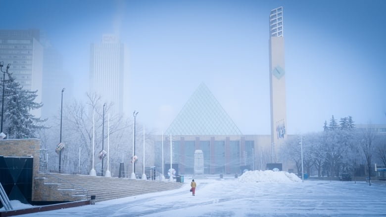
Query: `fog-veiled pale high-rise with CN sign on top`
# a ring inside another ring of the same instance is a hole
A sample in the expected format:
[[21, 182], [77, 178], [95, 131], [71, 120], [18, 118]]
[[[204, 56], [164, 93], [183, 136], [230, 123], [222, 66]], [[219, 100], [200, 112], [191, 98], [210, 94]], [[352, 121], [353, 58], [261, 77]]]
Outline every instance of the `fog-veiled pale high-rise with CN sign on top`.
[[103, 35], [101, 43], [90, 46], [90, 91], [110, 104], [111, 115], [123, 112], [124, 44], [117, 36]]

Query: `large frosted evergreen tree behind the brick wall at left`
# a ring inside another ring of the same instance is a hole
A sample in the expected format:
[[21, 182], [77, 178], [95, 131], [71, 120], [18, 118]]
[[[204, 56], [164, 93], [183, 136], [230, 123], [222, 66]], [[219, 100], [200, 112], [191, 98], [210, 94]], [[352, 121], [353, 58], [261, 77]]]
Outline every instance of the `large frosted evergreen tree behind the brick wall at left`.
[[[2, 86], [2, 84], [1, 84]], [[37, 91], [26, 90], [8, 73], [4, 90], [4, 133], [9, 138], [36, 138], [38, 130], [47, 128], [45, 120], [36, 118], [30, 113], [43, 106], [43, 103], [34, 102]]]

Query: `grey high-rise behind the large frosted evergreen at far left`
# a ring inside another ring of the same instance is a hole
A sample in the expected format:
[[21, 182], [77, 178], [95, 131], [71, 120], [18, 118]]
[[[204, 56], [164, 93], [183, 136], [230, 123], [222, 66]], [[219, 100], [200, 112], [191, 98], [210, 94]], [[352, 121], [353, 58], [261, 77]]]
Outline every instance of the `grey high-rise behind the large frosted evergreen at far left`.
[[[0, 30], [0, 60], [10, 63], [9, 72], [13, 73], [22, 87], [38, 90], [35, 102], [42, 102], [43, 46], [39, 42], [40, 31]], [[41, 109], [31, 111], [41, 116]]]

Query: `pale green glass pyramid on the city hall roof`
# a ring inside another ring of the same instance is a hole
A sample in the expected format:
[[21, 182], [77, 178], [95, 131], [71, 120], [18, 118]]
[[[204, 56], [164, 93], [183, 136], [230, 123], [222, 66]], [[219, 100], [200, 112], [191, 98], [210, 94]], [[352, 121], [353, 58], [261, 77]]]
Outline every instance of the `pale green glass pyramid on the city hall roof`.
[[201, 83], [165, 134], [241, 135], [241, 131], [208, 87]]

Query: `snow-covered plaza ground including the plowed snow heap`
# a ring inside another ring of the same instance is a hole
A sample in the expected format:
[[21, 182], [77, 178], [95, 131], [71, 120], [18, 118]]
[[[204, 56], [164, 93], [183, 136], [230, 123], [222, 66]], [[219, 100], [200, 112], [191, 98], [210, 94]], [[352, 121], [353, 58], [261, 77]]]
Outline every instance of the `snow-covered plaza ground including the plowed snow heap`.
[[[386, 185], [363, 181], [302, 181], [294, 174], [250, 171], [239, 178], [195, 179], [183, 187], [34, 213], [28, 217], [362, 217], [386, 216]], [[16, 204], [15, 204], [16, 205]]]

